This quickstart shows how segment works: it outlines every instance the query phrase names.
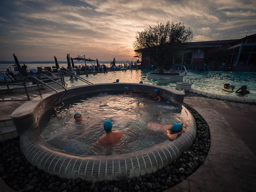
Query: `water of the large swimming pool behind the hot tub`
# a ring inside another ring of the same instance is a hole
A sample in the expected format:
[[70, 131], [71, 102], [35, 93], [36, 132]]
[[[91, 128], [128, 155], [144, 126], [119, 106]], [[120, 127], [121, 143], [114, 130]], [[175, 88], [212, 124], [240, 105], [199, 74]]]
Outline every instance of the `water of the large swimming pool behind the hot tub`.
[[[139, 83], [143, 81], [145, 84], [157, 85], [157, 81], [146, 79], [147, 73], [152, 72], [151, 70], [127, 70], [126, 72], [109, 71], [106, 74], [98, 73], [97, 75], [89, 75], [82, 77], [93, 84], [99, 83], [112, 83], [119, 79], [119, 82], [127, 83]], [[221, 76], [218, 75], [221, 73]], [[84, 85], [84, 82], [73, 81], [70, 82], [69, 78], [65, 78], [68, 87]], [[229, 96], [241, 96], [235, 92], [227, 92], [222, 90], [224, 83], [230, 83], [236, 86], [235, 90], [241, 85], [246, 84], [250, 94], [244, 97], [256, 98], [256, 73], [246, 73], [246, 72], [220, 72], [220, 71], [209, 71], [209, 72], [198, 72], [190, 71], [187, 76], [184, 76], [183, 81], [192, 83], [192, 88], [196, 90], [206, 91], [208, 93], [214, 93], [219, 95], [229, 95]], [[160, 85], [160, 84], [159, 84]], [[175, 83], [165, 84], [163, 87], [175, 88]]]

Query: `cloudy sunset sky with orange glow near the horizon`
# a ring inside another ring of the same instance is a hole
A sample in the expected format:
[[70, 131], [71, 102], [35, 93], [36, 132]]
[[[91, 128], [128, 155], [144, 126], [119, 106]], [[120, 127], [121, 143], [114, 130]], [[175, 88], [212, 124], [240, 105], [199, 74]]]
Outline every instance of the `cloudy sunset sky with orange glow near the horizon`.
[[1, 0], [0, 61], [131, 60], [136, 31], [183, 22], [193, 41], [256, 33], [256, 0]]

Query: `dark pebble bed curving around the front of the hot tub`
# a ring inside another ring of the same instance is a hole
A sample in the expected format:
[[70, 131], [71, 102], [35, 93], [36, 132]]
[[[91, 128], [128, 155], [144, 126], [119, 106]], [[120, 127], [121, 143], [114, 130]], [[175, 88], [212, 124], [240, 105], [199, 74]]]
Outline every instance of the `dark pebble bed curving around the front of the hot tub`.
[[209, 126], [193, 108], [184, 105], [195, 117], [197, 136], [192, 147], [158, 172], [133, 179], [89, 183], [49, 175], [32, 166], [20, 151], [19, 138], [0, 143], [0, 176], [17, 192], [160, 192], [192, 175], [204, 163], [210, 147]]

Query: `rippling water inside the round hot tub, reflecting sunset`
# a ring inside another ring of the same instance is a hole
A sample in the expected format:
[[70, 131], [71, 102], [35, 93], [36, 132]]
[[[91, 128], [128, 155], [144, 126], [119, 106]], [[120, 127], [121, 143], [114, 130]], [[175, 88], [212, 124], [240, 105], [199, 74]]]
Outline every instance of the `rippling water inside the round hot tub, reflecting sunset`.
[[[139, 74], [139, 73], [138, 73]], [[75, 154], [112, 155], [138, 151], [167, 140], [165, 132], [148, 129], [149, 122], [169, 125], [182, 122], [186, 114], [167, 101], [156, 102], [148, 94], [99, 93], [65, 102], [62, 111], [51, 111], [40, 122], [41, 137], [50, 145]], [[82, 122], [74, 123], [79, 111]], [[122, 131], [122, 140], [108, 147], [98, 140], [105, 134], [103, 122], [111, 119], [113, 130]], [[67, 135], [67, 141], [63, 141]]]

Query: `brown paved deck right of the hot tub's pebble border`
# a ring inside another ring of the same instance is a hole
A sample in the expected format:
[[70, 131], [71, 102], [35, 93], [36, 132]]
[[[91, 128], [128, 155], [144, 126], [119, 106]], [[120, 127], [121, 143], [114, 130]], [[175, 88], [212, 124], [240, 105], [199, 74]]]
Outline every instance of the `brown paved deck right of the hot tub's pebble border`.
[[166, 192], [255, 192], [256, 106], [202, 97], [184, 102], [208, 122], [211, 147], [204, 164]]

